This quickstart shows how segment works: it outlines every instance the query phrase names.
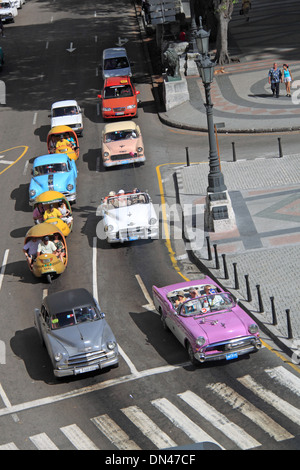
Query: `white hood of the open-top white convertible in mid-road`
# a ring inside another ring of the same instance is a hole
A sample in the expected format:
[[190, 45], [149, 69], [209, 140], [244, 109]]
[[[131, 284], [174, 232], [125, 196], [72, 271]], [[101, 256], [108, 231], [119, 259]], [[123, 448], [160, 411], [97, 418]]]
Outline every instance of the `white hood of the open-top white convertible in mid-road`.
[[106, 211], [105, 224], [112, 225], [115, 229], [130, 228], [131, 226], [148, 226], [149, 219], [156, 218], [152, 204], [136, 204], [128, 207], [119, 207]]

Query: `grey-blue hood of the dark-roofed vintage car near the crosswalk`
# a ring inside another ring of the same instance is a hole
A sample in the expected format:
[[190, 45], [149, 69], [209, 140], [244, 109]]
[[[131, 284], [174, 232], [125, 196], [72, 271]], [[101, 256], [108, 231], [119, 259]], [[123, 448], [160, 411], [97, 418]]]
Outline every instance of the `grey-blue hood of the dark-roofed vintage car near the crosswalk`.
[[104, 319], [85, 322], [60, 330], [52, 330], [51, 336], [63, 346], [69, 356], [74, 356], [80, 352], [102, 349], [103, 333], [106, 325]]

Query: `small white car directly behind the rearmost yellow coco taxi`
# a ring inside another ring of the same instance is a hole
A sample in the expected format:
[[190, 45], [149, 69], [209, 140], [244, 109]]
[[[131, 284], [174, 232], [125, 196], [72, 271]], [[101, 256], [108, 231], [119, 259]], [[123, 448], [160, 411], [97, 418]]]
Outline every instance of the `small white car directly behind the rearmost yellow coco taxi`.
[[75, 100], [56, 101], [51, 106], [51, 129], [56, 126], [68, 126], [82, 135], [83, 121], [80, 106]]

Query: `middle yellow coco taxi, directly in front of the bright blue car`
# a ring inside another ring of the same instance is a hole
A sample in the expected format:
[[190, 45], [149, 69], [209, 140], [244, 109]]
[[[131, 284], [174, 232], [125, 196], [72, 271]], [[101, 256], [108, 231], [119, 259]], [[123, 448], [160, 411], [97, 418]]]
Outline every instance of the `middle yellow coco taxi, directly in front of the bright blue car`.
[[[45, 211], [43, 220], [47, 224], [54, 224], [67, 237], [73, 228], [73, 216], [71, 205], [65, 196], [58, 191], [46, 191], [40, 194], [35, 202], [35, 206], [43, 205]], [[51, 206], [56, 209], [54, 216], [49, 212]], [[61, 213], [59, 217], [55, 217], [58, 214], [57, 210]]]

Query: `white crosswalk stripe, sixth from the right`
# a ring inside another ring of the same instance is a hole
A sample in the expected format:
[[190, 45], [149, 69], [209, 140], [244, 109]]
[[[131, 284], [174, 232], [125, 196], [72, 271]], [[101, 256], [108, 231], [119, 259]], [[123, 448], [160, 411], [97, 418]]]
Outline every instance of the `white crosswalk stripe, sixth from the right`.
[[177, 446], [176, 442], [137, 406], [129, 406], [128, 408], [123, 408], [122, 411], [158, 449]]

